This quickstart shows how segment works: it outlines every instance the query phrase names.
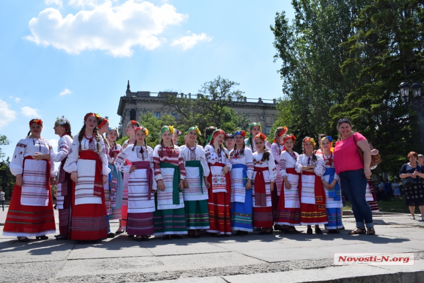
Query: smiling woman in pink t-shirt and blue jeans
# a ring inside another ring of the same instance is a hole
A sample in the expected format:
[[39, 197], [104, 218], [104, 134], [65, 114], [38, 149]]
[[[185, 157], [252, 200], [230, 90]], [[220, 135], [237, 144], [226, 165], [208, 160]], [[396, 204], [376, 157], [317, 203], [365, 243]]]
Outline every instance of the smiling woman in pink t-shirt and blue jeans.
[[[334, 148], [334, 164], [343, 191], [352, 203], [356, 220], [356, 228], [349, 232], [349, 235], [375, 235], [371, 208], [365, 199], [367, 179], [371, 177], [371, 149], [363, 135], [352, 132], [349, 119], [340, 119], [337, 130], [340, 136]], [[363, 162], [358, 148], [364, 153]]]

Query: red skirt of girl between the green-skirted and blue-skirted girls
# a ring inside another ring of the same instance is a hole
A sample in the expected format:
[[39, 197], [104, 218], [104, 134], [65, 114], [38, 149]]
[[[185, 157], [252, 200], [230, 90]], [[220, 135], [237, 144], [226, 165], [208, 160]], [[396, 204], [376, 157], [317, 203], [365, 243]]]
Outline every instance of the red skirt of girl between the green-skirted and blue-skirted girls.
[[[207, 232], [231, 235], [230, 202], [227, 193], [212, 193], [208, 190], [208, 210], [210, 228]], [[271, 207], [270, 207], [271, 208]]]

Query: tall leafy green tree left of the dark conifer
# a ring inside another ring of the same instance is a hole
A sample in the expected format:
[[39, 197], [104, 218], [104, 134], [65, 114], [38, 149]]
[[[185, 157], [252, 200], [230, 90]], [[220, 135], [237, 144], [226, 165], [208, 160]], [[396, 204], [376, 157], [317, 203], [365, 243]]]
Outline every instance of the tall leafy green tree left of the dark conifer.
[[285, 13], [277, 13], [274, 61], [282, 60], [279, 70], [283, 97], [278, 101], [277, 126], [301, 138], [319, 133], [335, 134], [330, 109], [344, 102], [355, 78], [342, 73], [343, 62], [351, 56], [348, 46], [341, 46], [353, 34], [352, 20], [363, 1], [292, 0], [295, 17], [290, 24]]

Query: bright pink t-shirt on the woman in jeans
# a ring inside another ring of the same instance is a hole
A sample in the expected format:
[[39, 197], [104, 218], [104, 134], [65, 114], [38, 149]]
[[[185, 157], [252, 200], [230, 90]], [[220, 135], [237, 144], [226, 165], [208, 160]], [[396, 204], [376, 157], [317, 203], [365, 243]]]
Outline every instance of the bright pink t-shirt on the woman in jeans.
[[[366, 138], [358, 132], [353, 134], [356, 142], [366, 140]], [[358, 146], [353, 141], [353, 135], [345, 140], [336, 142], [334, 147], [334, 167], [336, 173], [344, 171], [359, 170], [364, 167], [364, 162], [358, 152]]]

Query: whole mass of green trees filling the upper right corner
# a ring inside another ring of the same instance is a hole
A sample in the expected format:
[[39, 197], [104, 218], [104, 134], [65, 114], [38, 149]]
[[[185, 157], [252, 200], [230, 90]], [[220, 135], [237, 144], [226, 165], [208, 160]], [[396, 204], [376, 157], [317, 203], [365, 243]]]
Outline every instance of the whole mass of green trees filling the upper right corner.
[[[419, 151], [416, 114], [402, 105], [397, 85], [422, 81], [423, 3], [418, 0], [292, 0], [289, 23], [277, 13], [274, 46], [283, 97], [279, 120], [298, 140], [336, 136], [349, 118], [380, 150], [376, 171], [397, 173]], [[299, 142], [297, 149], [299, 150]]]

